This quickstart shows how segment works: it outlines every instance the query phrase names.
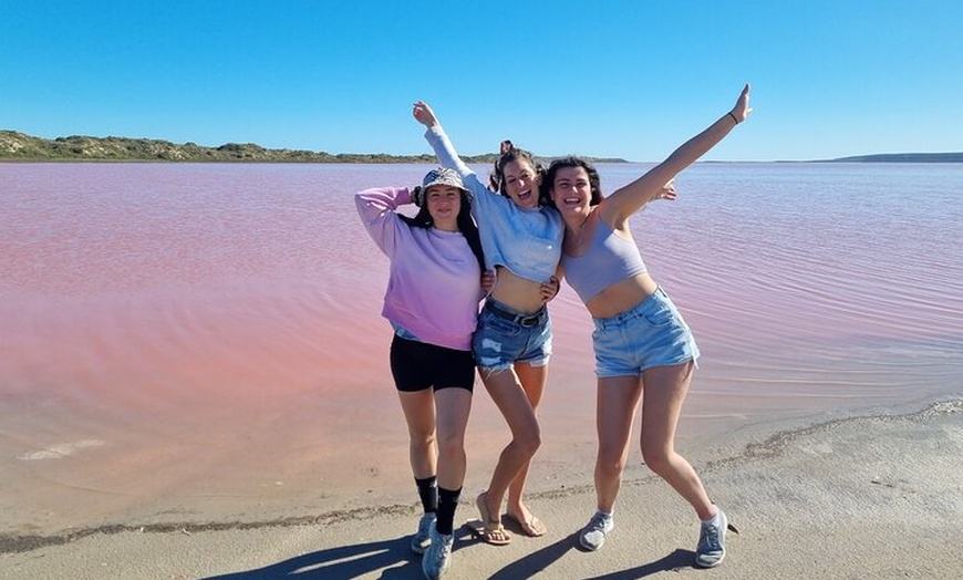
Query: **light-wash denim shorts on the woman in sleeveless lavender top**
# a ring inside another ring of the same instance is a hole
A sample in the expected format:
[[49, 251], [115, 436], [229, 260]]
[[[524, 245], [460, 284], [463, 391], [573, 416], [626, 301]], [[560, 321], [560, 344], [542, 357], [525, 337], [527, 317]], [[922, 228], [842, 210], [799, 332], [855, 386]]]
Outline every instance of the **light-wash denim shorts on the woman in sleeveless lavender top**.
[[661, 288], [633, 309], [592, 322], [597, 376], [634, 376], [698, 359], [692, 331]]

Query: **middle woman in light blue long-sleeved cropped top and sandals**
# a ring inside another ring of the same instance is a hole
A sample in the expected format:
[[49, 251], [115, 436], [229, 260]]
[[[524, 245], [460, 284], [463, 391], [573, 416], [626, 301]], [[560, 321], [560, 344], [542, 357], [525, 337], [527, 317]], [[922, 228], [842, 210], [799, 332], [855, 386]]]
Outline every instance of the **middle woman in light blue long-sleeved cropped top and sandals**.
[[531, 458], [541, 444], [536, 411], [548, 380], [551, 322], [546, 302], [558, 292], [558, 262], [563, 225], [558, 210], [540, 204], [543, 170], [532, 156], [503, 147], [496, 163], [495, 193], [466, 166], [432, 108], [414, 104], [415, 118], [441, 164], [457, 170], [474, 194], [472, 215], [478, 224], [486, 267], [496, 272], [495, 288], [478, 315], [473, 352], [482, 381], [509, 428], [491, 481], [476, 499], [482, 537], [505, 545], [511, 536], [501, 525], [501, 503], [527, 536], [541, 536], [545, 525], [522, 503]]

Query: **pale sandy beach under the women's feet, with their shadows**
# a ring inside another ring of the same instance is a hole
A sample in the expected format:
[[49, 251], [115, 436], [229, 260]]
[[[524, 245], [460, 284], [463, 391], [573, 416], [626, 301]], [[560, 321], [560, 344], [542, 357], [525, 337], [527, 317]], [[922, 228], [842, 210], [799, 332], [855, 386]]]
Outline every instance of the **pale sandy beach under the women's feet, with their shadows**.
[[[742, 453], [696, 465], [738, 534], [725, 562], [692, 567], [697, 528], [657, 478], [627, 479], [615, 529], [598, 552], [577, 547], [591, 515], [590, 485], [532, 495], [548, 526], [508, 547], [480, 543], [466, 490], [446, 578], [959, 578], [963, 516], [963, 400], [901, 415], [831, 421], [773, 433]], [[589, 484], [589, 481], [587, 481]], [[2, 540], [0, 578], [418, 579], [407, 548], [411, 506], [277, 521], [111, 526], [53, 538]], [[509, 527], [509, 529], [511, 529]]]

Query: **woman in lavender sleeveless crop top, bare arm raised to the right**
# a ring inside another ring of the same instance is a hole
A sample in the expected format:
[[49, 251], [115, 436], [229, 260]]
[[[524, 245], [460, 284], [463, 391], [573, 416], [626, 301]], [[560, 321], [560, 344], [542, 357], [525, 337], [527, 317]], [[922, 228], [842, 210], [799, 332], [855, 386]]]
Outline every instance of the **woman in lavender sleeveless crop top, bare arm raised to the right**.
[[702, 521], [696, 566], [717, 566], [725, 556], [725, 514], [710, 500], [692, 465], [675, 452], [675, 428], [698, 348], [679, 310], [646, 271], [629, 218], [653, 199], [673, 198], [675, 175], [745, 121], [748, 101], [746, 85], [731, 112], [604, 199], [599, 174], [582, 159], [556, 160], [546, 175], [547, 193], [566, 222], [561, 269], [596, 327], [598, 509], [579, 534], [588, 550], [600, 548], [613, 528], [612, 509], [641, 400], [645, 465], [688, 501]]

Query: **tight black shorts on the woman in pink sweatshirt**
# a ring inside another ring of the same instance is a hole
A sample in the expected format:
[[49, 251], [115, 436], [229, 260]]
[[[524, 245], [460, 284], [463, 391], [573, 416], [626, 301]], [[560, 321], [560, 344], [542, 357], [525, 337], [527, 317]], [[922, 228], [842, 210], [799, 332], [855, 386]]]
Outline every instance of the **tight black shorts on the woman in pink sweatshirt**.
[[391, 374], [398, 391], [428, 387], [475, 387], [475, 359], [470, 351], [456, 351], [395, 334], [391, 341]]

